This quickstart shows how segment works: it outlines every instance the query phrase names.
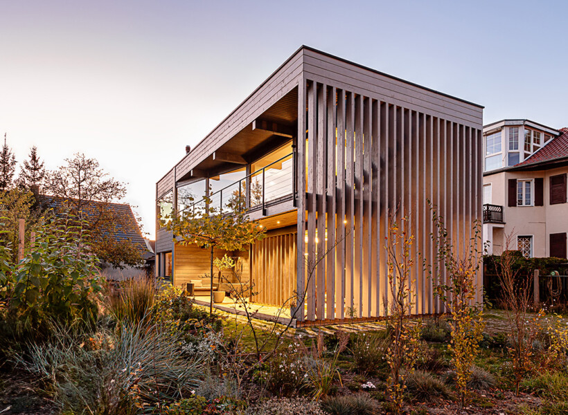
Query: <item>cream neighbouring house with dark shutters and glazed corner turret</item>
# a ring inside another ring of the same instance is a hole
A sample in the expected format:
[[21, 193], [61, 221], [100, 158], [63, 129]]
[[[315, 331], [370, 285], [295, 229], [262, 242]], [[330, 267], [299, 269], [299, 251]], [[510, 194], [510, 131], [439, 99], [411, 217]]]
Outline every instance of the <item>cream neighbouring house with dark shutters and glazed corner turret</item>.
[[483, 127], [483, 239], [488, 253], [567, 257], [568, 129], [529, 120]]

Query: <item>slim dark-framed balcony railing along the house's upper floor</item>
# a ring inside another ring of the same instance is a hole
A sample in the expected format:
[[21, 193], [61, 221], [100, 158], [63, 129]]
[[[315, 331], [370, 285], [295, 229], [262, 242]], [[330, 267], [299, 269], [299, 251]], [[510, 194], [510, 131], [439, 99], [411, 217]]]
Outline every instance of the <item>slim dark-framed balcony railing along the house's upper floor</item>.
[[181, 210], [193, 216], [213, 212], [229, 214], [242, 210], [265, 209], [267, 204], [294, 194], [294, 154], [288, 154], [209, 196], [209, 203], [196, 200]]

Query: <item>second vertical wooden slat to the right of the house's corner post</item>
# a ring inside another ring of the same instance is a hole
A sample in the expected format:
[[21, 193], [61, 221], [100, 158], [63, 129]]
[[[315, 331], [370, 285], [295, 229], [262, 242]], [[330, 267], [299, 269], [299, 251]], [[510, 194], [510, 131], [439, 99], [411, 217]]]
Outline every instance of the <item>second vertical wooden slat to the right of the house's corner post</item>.
[[[326, 251], [326, 140], [327, 140], [327, 86], [319, 84], [317, 89], [317, 258]], [[317, 318], [325, 318], [326, 307], [326, 261], [317, 265]]]

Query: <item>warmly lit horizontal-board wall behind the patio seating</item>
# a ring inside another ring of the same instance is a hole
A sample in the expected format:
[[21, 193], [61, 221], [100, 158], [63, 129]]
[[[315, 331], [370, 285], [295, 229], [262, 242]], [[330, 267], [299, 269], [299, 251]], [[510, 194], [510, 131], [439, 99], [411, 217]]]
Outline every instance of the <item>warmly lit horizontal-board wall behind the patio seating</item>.
[[[227, 252], [224, 250], [215, 250], [214, 255], [216, 258], [221, 258], [223, 255], [231, 257], [240, 257], [239, 261], [241, 275], [241, 282], [247, 284], [249, 282], [249, 252]], [[174, 285], [182, 286], [191, 279], [202, 279], [205, 285], [209, 285], [206, 281], [205, 275], [211, 273], [211, 250], [199, 248], [195, 245], [179, 245], [175, 246], [174, 255]], [[218, 269], [213, 268], [214, 284], [218, 281]], [[225, 279], [231, 283], [237, 282], [237, 279], [229, 271], [225, 271], [222, 279], [222, 289], [228, 290], [227, 284], [224, 284]]]

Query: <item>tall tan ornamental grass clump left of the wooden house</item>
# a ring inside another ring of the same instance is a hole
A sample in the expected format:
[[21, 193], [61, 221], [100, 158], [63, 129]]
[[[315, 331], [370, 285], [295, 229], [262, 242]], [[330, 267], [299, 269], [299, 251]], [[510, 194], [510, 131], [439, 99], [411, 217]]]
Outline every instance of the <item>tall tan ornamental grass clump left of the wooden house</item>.
[[154, 306], [154, 282], [141, 273], [121, 285], [121, 290], [112, 290], [109, 293], [107, 306], [118, 322], [138, 324], [149, 317]]

